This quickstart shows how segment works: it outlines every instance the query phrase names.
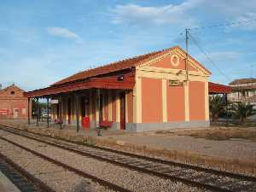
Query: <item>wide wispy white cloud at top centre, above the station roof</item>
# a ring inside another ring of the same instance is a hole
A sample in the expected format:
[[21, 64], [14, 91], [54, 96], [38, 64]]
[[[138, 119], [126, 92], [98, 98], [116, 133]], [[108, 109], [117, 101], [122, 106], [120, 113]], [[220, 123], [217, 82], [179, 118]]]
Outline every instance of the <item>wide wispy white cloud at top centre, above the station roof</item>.
[[146, 7], [137, 4], [117, 5], [111, 12], [113, 23], [141, 22], [154, 24], [178, 24], [192, 26], [196, 24], [195, 18], [189, 15], [189, 10], [194, 9], [202, 0], [188, 0], [174, 5], [167, 4], [159, 7]]

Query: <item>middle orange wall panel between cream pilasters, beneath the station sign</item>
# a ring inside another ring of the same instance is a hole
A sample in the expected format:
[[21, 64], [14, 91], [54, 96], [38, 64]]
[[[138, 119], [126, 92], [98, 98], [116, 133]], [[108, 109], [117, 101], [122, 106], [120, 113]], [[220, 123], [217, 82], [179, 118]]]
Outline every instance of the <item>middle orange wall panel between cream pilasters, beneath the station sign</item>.
[[166, 84], [167, 121], [185, 120], [184, 87]]

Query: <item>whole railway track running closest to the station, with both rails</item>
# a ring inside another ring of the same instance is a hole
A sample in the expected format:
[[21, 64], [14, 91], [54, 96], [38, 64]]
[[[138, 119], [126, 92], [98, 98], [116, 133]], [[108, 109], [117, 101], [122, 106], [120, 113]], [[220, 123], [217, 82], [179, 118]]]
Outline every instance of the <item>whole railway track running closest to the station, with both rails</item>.
[[67, 151], [84, 155], [113, 165], [143, 172], [156, 177], [182, 182], [190, 186], [212, 191], [256, 191], [256, 177], [230, 172], [221, 172], [200, 166], [191, 166], [166, 160], [158, 160], [137, 154], [129, 154], [109, 148], [79, 145], [53, 137], [46, 137], [13, 127], [0, 127], [20, 137], [52, 145]]

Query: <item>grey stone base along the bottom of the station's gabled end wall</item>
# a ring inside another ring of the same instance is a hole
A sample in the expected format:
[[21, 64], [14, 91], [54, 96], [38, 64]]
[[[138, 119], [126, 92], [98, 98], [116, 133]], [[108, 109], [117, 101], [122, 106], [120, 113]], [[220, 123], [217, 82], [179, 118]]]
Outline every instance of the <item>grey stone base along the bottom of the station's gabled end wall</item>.
[[195, 128], [195, 127], [209, 127], [210, 121], [183, 121], [183, 122], [166, 122], [166, 123], [127, 123], [126, 131], [142, 132], [142, 131], [156, 131], [156, 130], [170, 130], [178, 128]]

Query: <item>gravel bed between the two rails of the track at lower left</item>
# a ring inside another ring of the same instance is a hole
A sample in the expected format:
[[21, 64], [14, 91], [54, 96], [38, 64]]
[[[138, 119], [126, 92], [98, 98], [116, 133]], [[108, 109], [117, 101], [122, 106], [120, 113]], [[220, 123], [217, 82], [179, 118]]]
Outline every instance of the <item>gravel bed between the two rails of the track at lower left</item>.
[[22, 166], [27, 172], [38, 177], [42, 182], [49, 185], [56, 192], [92, 192], [92, 191], [112, 191], [98, 183], [93, 183], [90, 179], [68, 172], [60, 166], [55, 166], [48, 161], [42, 160], [25, 150], [15, 147], [0, 139], [0, 151], [16, 164]]

